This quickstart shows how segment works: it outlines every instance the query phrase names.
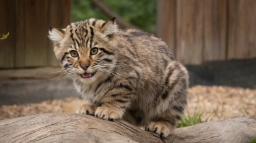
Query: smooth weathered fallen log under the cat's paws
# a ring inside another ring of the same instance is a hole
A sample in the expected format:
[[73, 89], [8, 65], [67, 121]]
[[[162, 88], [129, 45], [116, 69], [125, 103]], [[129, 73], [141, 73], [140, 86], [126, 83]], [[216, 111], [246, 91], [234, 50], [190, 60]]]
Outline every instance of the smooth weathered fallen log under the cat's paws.
[[161, 139], [123, 120], [50, 113], [0, 121], [1, 142], [251, 142], [256, 118], [242, 115], [175, 129]]

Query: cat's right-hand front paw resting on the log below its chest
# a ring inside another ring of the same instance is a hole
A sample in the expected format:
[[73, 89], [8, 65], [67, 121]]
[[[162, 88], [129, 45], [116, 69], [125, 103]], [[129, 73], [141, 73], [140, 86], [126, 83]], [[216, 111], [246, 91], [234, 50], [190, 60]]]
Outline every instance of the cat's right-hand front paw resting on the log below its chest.
[[97, 107], [95, 116], [104, 120], [118, 120], [123, 116], [123, 111], [115, 110], [110, 107]]

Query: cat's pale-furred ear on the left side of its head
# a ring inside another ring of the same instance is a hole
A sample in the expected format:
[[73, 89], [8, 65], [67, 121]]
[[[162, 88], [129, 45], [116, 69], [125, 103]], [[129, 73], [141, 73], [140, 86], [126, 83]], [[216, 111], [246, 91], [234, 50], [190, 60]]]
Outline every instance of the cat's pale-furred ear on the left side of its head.
[[53, 42], [60, 42], [65, 35], [66, 29], [53, 28], [49, 26], [49, 38]]

